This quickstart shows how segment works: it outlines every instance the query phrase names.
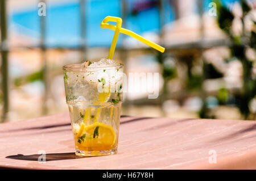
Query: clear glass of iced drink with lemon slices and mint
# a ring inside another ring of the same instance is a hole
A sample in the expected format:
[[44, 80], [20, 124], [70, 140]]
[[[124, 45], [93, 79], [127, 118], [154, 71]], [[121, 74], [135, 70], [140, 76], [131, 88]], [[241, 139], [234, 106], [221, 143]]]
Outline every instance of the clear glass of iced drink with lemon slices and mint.
[[103, 58], [63, 70], [76, 155], [117, 153], [123, 65]]

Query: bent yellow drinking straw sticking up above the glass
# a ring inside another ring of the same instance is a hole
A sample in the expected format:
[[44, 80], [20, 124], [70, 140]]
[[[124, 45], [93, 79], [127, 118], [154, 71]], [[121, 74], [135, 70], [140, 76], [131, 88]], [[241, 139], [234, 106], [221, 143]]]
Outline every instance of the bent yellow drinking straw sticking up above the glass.
[[[114, 26], [112, 24], [109, 24], [108, 22], [117, 22], [117, 25]], [[137, 33], [134, 33], [130, 30], [126, 30], [125, 28], [122, 28], [122, 19], [118, 18], [118, 17], [114, 17], [114, 16], [106, 16], [106, 18], [104, 18], [104, 20], [102, 20], [101, 22], [101, 28], [108, 28], [110, 30], [114, 30], [114, 37], [112, 40], [112, 44], [109, 50], [109, 59], [113, 59], [113, 55], [114, 55], [114, 51], [115, 51], [115, 46], [117, 45], [117, 39], [119, 36], [119, 33], [123, 33], [126, 35], [129, 35], [131, 37], [134, 37], [135, 39], [141, 41], [144, 44], [147, 44], [148, 46], [155, 48], [156, 50], [159, 50], [159, 52], [164, 52], [165, 48], [161, 47], [158, 44], [155, 44], [147, 39], [144, 39], [144, 37], [139, 36]]]

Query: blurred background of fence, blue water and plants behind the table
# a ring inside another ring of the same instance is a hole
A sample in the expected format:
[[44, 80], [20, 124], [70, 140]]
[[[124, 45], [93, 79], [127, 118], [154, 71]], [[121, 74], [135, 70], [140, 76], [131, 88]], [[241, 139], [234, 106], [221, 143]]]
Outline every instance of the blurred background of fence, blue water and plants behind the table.
[[[43, 2], [46, 16], [40, 16]], [[62, 66], [108, 56], [105, 16], [166, 48], [120, 35], [114, 59], [158, 72], [158, 99], [126, 93], [122, 115], [256, 120], [256, 2], [1, 1], [1, 121], [67, 112]]]

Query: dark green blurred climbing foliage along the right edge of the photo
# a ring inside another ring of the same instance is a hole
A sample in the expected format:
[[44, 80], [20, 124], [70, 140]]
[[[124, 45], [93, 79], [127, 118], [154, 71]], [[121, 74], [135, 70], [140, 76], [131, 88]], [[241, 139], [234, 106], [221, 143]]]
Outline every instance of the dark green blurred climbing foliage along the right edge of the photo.
[[[243, 18], [248, 14], [251, 10], [250, 6], [247, 4], [246, 0], [241, 1], [241, 7], [243, 11], [243, 16], [241, 18], [242, 22], [242, 33], [241, 36], [234, 36], [232, 35], [232, 21], [234, 16], [231, 11], [226, 9], [226, 7], [222, 6], [220, 1], [215, 1], [217, 5], [217, 21], [218, 26], [221, 28], [222, 31], [226, 32], [229, 36], [231, 41], [230, 49], [232, 52], [232, 57], [238, 58], [241, 61], [242, 68], [243, 68], [243, 87], [241, 94], [236, 94], [235, 104], [238, 108], [240, 108], [241, 113], [245, 116], [245, 119], [249, 115], [249, 102], [251, 99], [254, 98], [256, 94], [256, 81], [252, 78], [251, 72], [253, 69], [253, 62], [247, 59], [245, 56], [246, 48], [256, 48], [256, 33], [252, 31], [250, 36], [248, 33], [244, 32], [244, 20]], [[253, 22], [255, 25], [255, 22]], [[228, 99], [228, 91], [225, 89], [221, 89], [218, 92], [218, 99], [221, 104], [225, 104]]]

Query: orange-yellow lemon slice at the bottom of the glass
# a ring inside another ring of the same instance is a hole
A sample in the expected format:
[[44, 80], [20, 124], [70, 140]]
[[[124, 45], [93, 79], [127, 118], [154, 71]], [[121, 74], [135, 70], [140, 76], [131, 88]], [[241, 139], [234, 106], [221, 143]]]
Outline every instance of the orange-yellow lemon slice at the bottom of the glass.
[[115, 132], [109, 125], [97, 122], [84, 127], [83, 131], [80, 135], [85, 136], [82, 141], [77, 142], [80, 150], [101, 151], [114, 148]]

